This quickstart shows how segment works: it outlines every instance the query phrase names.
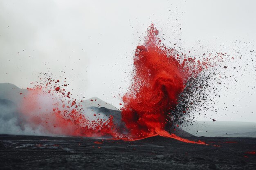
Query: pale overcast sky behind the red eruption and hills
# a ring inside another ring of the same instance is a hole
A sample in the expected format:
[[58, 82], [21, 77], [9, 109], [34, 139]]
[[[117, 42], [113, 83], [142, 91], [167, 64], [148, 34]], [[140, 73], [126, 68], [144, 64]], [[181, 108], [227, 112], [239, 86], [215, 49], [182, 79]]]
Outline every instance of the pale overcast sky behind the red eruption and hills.
[[208, 114], [256, 122], [255, 62], [247, 65], [256, 60], [255, 7], [254, 0], [1, 0], [0, 83], [27, 88], [38, 73], [50, 73], [67, 78], [73, 97], [97, 96], [119, 107], [135, 48], [153, 22], [179, 51], [243, 55], [227, 62], [225, 74], [236, 79], [227, 82], [231, 89], [220, 86], [218, 114]]

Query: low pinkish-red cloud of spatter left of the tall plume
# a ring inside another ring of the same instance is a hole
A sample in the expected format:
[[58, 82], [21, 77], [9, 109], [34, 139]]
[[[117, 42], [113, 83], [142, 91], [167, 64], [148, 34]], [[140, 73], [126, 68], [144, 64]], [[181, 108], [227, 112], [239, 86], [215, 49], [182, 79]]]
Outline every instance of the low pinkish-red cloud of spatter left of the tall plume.
[[19, 111], [23, 122], [39, 132], [84, 137], [119, 137], [112, 117], [90, 119], [82, 102], [70, 98], [70, 92], [51, 78], [34, 88], [22, 100]]

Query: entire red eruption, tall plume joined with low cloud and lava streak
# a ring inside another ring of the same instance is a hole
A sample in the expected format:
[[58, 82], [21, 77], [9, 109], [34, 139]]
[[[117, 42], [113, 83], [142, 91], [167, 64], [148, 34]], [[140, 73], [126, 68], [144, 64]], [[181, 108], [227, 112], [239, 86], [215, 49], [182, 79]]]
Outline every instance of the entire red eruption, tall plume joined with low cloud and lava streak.
[[[112, 117], [91, 120], [83, 113], [82, 101], [72, 99], [70, 92], [65, 91], [67, 84], [51, 78], [29, 88], [29, 94], [20, 105], [25, 121], [33, 128], [40, 126], [49, 133], [59, 135], [108, 136], [126, 140], [160, 135], [205, 144], [169, 134], [165, 127], [171, 121], [168, 115], [177, 106], [179, 95], [188, 79], [214, 66], [214, 62], [208, 58], [199, 61], [186, 57], [184, 53], [179, 54], [175, 49], [168, 49], [162, 44], [158, 34], [159, 31], [152, 24], [148, 28], [144, 44], [137, 46], [135, 51], [132, 85], [123, 96], [124, 106], [121, 108], [122, 121], [126, 124], [128, 133], [122, 134]], [[222, 54], [216, 57], [222, 57]], [[51, 97], [49, 104], [42, 103], [44, 97]]]

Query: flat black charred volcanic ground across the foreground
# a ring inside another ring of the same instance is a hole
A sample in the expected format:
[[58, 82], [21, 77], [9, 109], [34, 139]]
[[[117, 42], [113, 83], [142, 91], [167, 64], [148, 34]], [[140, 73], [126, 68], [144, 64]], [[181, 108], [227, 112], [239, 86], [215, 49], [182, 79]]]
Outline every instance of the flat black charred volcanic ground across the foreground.
[[197, 169], [254, 170], [256, 138], [186, 137], [137, 141], [83, 137], [0, 135], [1, 170], [7, 169]]

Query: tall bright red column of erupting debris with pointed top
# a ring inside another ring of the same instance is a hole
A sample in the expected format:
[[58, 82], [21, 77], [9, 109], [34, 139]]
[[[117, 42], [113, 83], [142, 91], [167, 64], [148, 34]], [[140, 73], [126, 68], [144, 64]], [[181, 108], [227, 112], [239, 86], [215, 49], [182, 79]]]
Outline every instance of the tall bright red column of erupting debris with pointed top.
[[[152, 24], [144, 44], [137, 46], [132, 85], [123, 97], [122, 120], [134, 139], [162, 135], [166, 124], [173, 124], [174, 111], [182, 102], [180, 95], [188, 80], [215, 65], [209, 58], [200, 61], [168, 49], [158, 34]], [[178, 119], [184, 117], [186, 110], [181, 113]]]

